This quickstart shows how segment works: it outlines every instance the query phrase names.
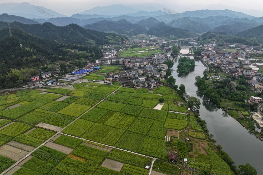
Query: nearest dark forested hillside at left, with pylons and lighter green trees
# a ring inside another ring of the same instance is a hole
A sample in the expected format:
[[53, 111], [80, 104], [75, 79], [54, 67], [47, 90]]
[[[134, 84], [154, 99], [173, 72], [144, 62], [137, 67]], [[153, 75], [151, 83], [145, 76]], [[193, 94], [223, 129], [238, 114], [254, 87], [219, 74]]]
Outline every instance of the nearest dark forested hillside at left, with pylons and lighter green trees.
[[43, 67], [45, 61], [36, 57], [38, 54], [55, 65], [60, 65], [61, 61], [70, 61], [63, 63], [65, 73], [69, 72], [72, 66], [83, 66], [81, 60], [96, 60], [103, 56], [98, 46], [48, 40], [18, 28], [12, 28], [11, 31], [12, 37], [9, 36], [8, 27], [0, 29], [0, 89], [20, 86], [30, 81], [30, 76], [39, 75], [34, 69], [42, 67], [45, 72], [49, 71]]

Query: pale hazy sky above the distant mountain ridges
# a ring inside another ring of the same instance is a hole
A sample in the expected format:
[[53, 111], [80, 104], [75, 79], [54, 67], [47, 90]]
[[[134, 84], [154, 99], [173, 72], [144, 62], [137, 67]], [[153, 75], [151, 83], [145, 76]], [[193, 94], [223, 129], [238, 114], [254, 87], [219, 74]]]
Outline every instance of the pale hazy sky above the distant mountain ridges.
[[[0, 0], [0, 3], [8, 3], [8, 2], [28, 2], [32, 5], [43, 6], [45, 8], [52, 9], [58, 13], [65, 15], [72, 15], [75, 13], [83, 12], [84, 10], [91, 9], [96, 6], [108, 6], [112, 4], [124, 4], [124, 5], [134, 5], [134, 4], [143, 4], [143, 3], [155, 3], [160, 4], [160, 6], [170, 7], [176, 12], [184, 12], [184, 11], [192, 11], [192, 10], [200, 10], [200, 9], [230, 9], [235, 11], [242, 11], [243, 13], [253, 15], [254, 16], [263, 16], [262, 0], [188, 0], [188, 1], [174, 1], [174, 0], [132, 0], [132, 1], [120, 1], [120, 0]], [[212, 4], [223, 4], [223, 5], [215, 5], [210, 6]], [[253, 12], [252, 9], [256, 9], [257, 11]], [[257, 13], [261, 13], [258, 14]], [[1, 13], [1, 12], [0, 12]]]

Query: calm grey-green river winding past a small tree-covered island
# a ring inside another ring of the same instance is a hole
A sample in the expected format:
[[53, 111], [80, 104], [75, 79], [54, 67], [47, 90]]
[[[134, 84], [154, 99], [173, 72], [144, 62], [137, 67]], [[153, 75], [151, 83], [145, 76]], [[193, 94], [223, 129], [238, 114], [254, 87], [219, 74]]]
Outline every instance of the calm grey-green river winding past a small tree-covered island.
[[[182, 49], [181, 53], [187, 54], [188, 49]], [[193, 57], [190, 57], [193, 59]], [[179, 59], [179, 58], [178, 58]], [[249, 163], [257, 170], [257, 174], [263, 174], [263, 142], [254, 135], [249, 134], [249, 130], [231, 116], [227, 115], [222, 109], [213, 104], [207, 103], [202, 96], [198, 96], [197, 87], [195, 86], [195, 77], [203, 76], [203, 67], [201, 61], [195, 61], [195, 70], [185, 76], [178, 77], [176, 66], [178, 59], [175, 60], [172, 76], [176, 79], [178, 87], [180, 84], [185, 85], [186, 93], [200, 99], [200, 117], [206, 121], [210, 134], [214, 135], [216, 144], [220, 144], [225, 152], [229, 154], [235, 165], [245, 165]]]

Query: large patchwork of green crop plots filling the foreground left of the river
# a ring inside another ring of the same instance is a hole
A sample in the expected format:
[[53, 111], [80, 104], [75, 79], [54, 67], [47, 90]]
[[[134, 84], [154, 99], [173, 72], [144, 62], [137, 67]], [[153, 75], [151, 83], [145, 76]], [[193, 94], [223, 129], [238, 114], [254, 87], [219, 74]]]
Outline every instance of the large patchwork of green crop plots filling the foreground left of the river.
[[[232, 174], [195, 116], [189, 114], [185, 105], [179, 106], [185, 102], [173, 89], [161, 86], [150, 93], [148, 89], [120, 87], [118, 83], [73, 86], [75, 90], [47, 89], [49, 93], [45, 94], [24, 90], [0, 96], [0, 127], [4, 127], [0, 130], [0, 146], [6, 149], [0, 149], [0, 173], [48, 141], [14, 174], [147, 175], [145, 166], [152, 163], [152, 157], [160, 159], [154, 162], [154, 171], [176, 175], [189, 172], [162, 162], [168, 161], [168, 152], [188, 158], [189, 167]], [[69, 97], [57, 101], [62, 94]], [[161, 110], [154, 109], [160, 95], [165, 99], [164, 105]], [[15, 104], [18, 105], [4, 110]], [[185, 142], [186, 138], [189, 142]], [[21, 148], [20, 154], [18, 151], [16, 156], [9, 156], [9, 150], [19, 149], [11, 146], [14, 143], [27, 145], [31, 150]], [[114, 167], [119, 167], [118, 171]]]

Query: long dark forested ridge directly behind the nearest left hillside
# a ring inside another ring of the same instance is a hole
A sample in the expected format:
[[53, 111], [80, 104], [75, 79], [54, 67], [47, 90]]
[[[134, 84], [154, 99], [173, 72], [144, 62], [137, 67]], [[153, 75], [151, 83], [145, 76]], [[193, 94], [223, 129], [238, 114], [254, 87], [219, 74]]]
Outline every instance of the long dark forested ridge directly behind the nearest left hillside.
[[[55, 26], [51, 23], [30, 25], [14, 22], [10, 24], [12, 29], [18, 28], [32, 35], [41, 36], [45, 39], [57, 40], [71, 44], [109, 45], [128, 40], [124, 36], [84, 29], [77, 24], [69, 24], [66, 26]], [[7, 26], [7, 23], [0, 22], [0, 27], [4, 26]]]

